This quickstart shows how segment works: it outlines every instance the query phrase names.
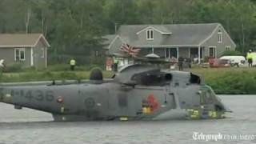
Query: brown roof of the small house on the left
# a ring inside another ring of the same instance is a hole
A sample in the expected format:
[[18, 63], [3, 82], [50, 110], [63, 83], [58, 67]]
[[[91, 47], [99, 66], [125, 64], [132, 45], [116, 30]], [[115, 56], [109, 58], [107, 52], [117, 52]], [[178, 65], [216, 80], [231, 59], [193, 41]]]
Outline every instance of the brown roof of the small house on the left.
[[40, 39], [50, 47], [42, 34], [0, 34], [0, 47], [34, 47]]

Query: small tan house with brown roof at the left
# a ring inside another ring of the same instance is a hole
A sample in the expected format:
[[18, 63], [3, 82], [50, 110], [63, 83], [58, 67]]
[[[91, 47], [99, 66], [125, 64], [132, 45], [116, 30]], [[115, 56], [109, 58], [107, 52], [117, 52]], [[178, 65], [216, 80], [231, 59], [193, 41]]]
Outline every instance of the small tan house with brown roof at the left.
[[0, 59], [6, 66], [21, 63], [23, 67], [46, 67], [48, 47], [42, 34], [0, 34]]

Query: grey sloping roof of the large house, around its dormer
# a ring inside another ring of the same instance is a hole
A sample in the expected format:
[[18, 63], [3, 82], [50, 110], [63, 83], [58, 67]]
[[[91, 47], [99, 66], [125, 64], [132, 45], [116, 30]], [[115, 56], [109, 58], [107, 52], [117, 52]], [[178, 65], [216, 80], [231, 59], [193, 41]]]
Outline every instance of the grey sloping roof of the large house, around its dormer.
[[120, 26], [117, 34], [122, 40], [130, 45], [137, 47], [147, 47], [145, 41], [138, 39], [138, 32], [145, 30], [147, 27], [153, 27], [163, 33], [161, 41], [150, 42], [150, 46], [198, 46], [221, 26], [219, 23], [203, 24], [171, 24], [171, 25], [124, 25]]

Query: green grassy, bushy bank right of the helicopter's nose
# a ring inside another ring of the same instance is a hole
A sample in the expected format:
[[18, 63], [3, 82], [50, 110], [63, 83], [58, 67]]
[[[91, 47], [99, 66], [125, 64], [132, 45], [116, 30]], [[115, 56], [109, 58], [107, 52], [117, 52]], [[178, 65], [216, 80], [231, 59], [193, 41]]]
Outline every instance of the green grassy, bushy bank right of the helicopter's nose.
[[256, 70], [247, 68], [216, 68], [193, 70], [202, 74], [207, 85], [217, 94], [256, 94]]

